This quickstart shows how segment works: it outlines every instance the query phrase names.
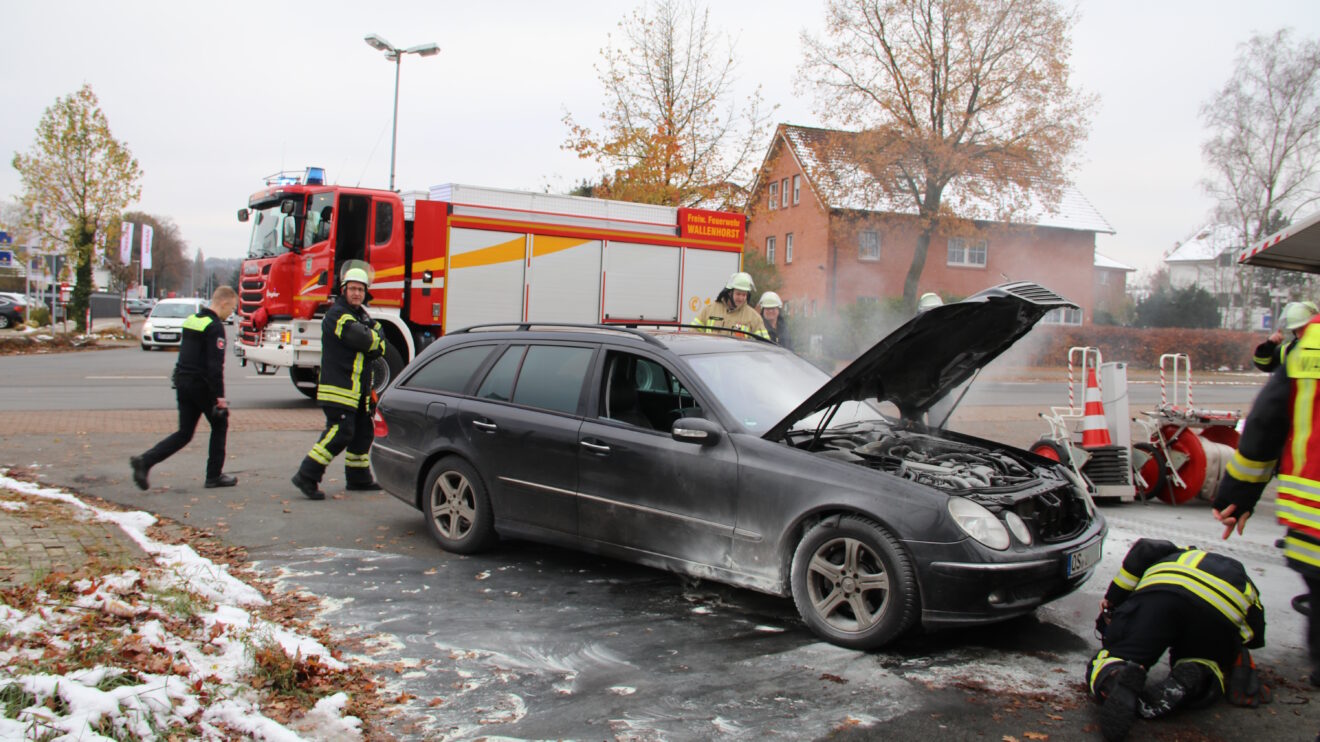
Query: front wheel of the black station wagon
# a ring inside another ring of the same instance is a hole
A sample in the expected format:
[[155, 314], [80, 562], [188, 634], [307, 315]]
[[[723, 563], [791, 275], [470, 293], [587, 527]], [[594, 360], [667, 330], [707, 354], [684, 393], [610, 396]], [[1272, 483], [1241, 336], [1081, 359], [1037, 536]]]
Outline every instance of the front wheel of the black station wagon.
[[894, 536], [866, 518], [816, 524], [797, 544], [791, 580], [803, 621], [841, 647], [882, 647], [917, 614], [912, 562]]

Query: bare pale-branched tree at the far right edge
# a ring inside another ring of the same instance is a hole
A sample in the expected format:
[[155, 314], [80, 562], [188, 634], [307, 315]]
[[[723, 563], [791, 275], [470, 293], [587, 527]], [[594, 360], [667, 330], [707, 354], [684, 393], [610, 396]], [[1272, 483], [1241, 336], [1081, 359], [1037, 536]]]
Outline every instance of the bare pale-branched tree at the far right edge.
[[[1201, 147], [1216, 218], [1246, 247], [1287, 226], [1316, 202], [1320, 168], [1320, 44], [1279, 30], [1238, 46], [1237, 66], [1201, 107], [1210, 137]], [[1236, 272], [1239, 326], [1270, 273]]]

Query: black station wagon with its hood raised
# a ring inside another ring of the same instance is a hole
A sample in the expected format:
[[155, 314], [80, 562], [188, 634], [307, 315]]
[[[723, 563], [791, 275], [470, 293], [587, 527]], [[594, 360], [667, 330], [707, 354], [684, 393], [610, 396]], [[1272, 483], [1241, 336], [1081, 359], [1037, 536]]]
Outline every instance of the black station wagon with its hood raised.
[[531, 539], [791, 595], [845, 647], [1002, 621], [1090, 577], [1105, 522], [1059, 462], [923, 417], [1060, 306], [987, 289], [834, 378], [675, 327], [458, 330], [383, 395], [371, 462], [446, 551]]

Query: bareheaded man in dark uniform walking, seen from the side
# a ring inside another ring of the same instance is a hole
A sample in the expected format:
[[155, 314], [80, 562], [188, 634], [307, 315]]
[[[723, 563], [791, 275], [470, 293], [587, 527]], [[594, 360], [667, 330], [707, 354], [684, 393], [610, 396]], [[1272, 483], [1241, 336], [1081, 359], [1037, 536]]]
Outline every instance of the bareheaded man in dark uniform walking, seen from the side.
[[211, 305], [183, 320], [183, 337], [174, 364], [174, 388], [178, 399], [178, 430], [152, 446], [143, 455], [128, 459], [133, 483], [145, 490], [152, 466], [174, 455], [193, 440], [197, 420], [206, 416], [211, 425], [211, 448], [206, 458], [206, 486], [232, 487], [235, 477], [223, 473], [224, 438], [230, 429], [230, 403], [224, 399], [224, 321], [239, 305], [239, 294], [219, 287]]

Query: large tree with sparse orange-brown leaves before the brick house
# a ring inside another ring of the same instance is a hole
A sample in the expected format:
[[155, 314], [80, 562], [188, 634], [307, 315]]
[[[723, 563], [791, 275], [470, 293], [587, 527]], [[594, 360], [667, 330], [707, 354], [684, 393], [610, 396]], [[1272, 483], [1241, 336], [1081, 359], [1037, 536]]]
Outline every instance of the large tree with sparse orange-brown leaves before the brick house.
[[1068, 81], [1072, 24], [1055, 0], [830, 0], [826, 38], [804, 34], [820, 115], [865, 132], [873, 195], [920, 220], [909, 312], [933, 234], [1057, 205], [1093, 102]]

